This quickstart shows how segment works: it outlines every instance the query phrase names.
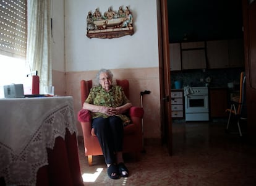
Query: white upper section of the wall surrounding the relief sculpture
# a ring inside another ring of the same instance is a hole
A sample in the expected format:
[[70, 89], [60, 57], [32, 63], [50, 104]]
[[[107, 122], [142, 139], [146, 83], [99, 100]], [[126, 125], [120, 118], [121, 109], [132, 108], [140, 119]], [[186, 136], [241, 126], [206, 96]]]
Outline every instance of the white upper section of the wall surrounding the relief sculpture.
[[[65, 1], [65, 72], [92, 71], [103, 67], [140, 69], [159, 66], [156, 0], [75, 2]], [[119, 6], [129, 6], [132, 11], [134, 35], [113, 39], [90, 39], [86, 36], [89, 11], [94, 12], [98, 8], [103, 13], [109, 7], [117, 10]]]

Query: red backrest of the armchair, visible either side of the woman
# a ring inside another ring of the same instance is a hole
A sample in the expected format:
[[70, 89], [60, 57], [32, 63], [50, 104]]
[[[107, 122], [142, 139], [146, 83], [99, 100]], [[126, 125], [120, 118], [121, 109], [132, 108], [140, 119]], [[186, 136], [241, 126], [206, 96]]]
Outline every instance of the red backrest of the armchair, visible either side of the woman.
[[[116, 85], [119, 85], [124, 90], [124, 93], [126, 94], [126, 97], [129, 99], [129, 81], [124, 80], [116, 80]], [[83, 103], [87, 99], [90, 90], [92, 88], [92, 80], [81, 80], [80, 82], [80, 93], [81, 93], [81, 104], [83, 106]]]

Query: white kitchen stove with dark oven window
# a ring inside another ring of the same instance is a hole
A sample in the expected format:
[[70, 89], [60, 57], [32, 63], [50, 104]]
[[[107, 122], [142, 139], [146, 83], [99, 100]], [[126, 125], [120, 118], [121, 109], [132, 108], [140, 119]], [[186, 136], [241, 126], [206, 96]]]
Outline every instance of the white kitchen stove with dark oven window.
[[186, 121], [209, 120], [208, 87], [185, 87]]

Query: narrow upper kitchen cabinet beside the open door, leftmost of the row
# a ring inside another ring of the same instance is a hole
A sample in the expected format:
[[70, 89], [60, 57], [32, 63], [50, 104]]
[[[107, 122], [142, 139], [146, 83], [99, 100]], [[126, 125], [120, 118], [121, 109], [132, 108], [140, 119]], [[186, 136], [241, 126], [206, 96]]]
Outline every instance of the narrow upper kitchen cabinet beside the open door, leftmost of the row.
[[181, 70], [181, 44], [180, 43], [170, 43], [169, 44], [169, 53], [170, 53], [171, 71]]

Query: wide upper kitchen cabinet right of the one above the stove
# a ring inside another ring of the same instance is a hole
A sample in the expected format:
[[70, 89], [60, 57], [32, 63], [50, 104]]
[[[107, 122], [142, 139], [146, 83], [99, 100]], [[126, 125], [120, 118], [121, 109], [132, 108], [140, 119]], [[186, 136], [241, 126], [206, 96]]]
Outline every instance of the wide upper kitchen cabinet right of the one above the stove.
[[208, 69], [244, 67], [242, 40], [207, 41]]

